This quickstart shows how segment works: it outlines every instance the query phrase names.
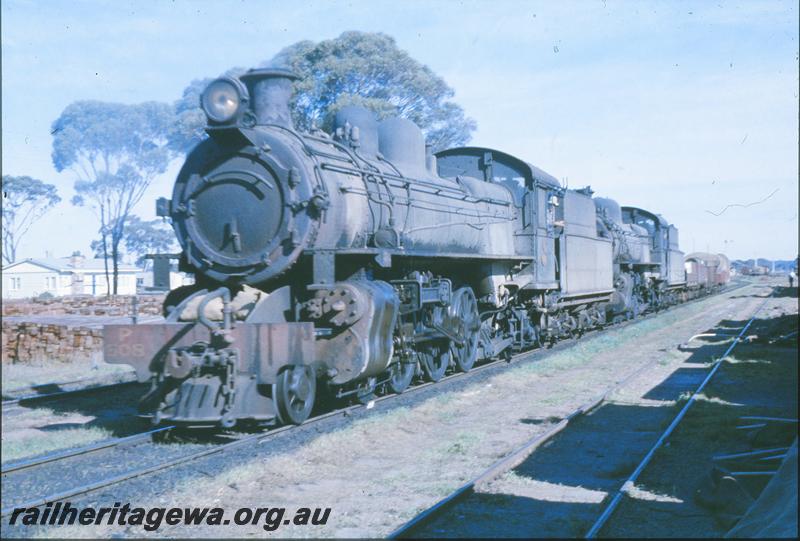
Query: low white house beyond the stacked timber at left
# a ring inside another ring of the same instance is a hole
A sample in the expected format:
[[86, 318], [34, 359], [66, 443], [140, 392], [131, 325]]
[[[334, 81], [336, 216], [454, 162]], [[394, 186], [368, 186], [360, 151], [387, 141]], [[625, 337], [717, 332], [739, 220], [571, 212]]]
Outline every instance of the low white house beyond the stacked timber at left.
[[[112, 272], [111, 261], [108, 263]], [[136, 294], [134, 265], [119, 265], [117, 294]], [[111, 290], [113, 291], [113, 275]], [[55, 297], [65, 295], [106, 295], [105, 264], [102, 259], [86, 259], [80, 252], [70, 257], [29, 258], [3, 267], [3, 298], [24, 299], [50, 293]]]

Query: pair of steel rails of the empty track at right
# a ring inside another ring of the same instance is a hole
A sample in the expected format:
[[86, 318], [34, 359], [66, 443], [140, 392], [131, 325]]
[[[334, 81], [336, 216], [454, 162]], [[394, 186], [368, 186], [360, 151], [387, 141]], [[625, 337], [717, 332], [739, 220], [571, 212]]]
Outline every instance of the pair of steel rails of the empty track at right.
[[[728, 289], [727, 291], [730, 292], [735, 289], [739, 289], [741, 287], [744, 286], [743, 285], [735, 286]], [[742, 337], [744, 336], [744, 333], [746, 333], [747, 330], [750, 328], [751, 324], [753, 323], [753, 321], [755, 320], [761, 309], [764, 307], [764, 305], [767, 303], [768, 299], [769, 297], [765, 299], [763, 303], [761, 303], [761, 305], [756, 309], [752, 317], [740, 329], [738, 334], [736, 334], [735, 337], [731, 336], [731, 338], [734, 338], [731, 345], [727, 348], [725, 353], [716, 362], [714, 362], [712, 368], [709, 370], [709, 373], [703, 379], [700, 386], [693, 392], [691, 398], [687, 401], [687, 403], [684, 405], [684, 407], [681, 409], [681, 411], [678, 413], [675, 419], [670, 423], [670, 425], [667, 427], [667, 429], [664, 431], [661, 437], [657, 440], [655, 445], [650, 449], [647, 455], [645, 455], [644, 459], [642, 459], [642, 461], [639, 463], [638, 467], [634, 470], [634, 472], [630, 475], [630, 477], [626, 479], [626, 481], [619, 487], [614, 497], [612, 498], [611, 502], [608, 504], [608, 506], [605, 508], [600, 517], [597, 519], [595, 524], [586, 534], [587, 538], [594, 538], [597, 536], [597, 534], [602, 529], [605, 522], [613, 514], [617, 505], [624, 496], [626, 487], [633, 485], [638, 476], [641, 474], [641, 472], [644, 470], [644, 468], [652, 459], [653, 455], [655, 454], [655, 451], [664, 443], [667, 437], [669, 437], [669, 435], [674, 431], [675, 427], [677, 427], [677, 425], [683, 419], [684, 415], [686, 414], [686, 411], [688, 411], [688, 409], [691, 407], [692, 403], [695, 401], [698, 394], [702, 392], [707, 383], [714, 376], [717, 369], [721, 365], [722, 359], [728, 356], [736, 347], [736, 345], [739, 344]], [[657, 361], [658, 359], [656, 358], [650, 359], [646, 363], [637, 367], [635, 370], [627, 374], [622, 380], [618, 381], [614, 385], [605, 389], [599, 396], [595, 397], [594, 399], [588, 401], [585, 404], [582, 404], [574, 411], [572, 411], [569, 415], [561, 419], [558, 423], [554, 424], [553, 426], [545, 430], [543, 433], [537, 434], [536, 436], [525, 442], [521, 447], [519, 447], [512, 453], [508, 454], [507, 456], [503, 457], [502, 459], [498, 460], [497, 462], [489, 466], [489, 468], [481, 472], [477, 477], [465, 483], [464, 485], [456, 489], [454, 492], [452, 492], [445, 498], [439, 500], [431, 507], [423, 510], [421, 513], [417, 514], [411, 520], [409, 520], [399, 528], [395, 529], [388, 535], [388, 539], [401, 539], [401, 538], [414, 537], [416, 533], [422, 532], [424, 528], [430, 523], [432, 523], [434, 520], [446, 515], [448, 511], [452, 509], [455, 504], [473, 494], [476, 490], [476, 487], [485, 485], [486, 483], [489, 483], [490, 481], [498, 478], [502, 474], [518, 466], [520, 463], [522, 463], [522, 461], [528, 458], [539, 446], [552, 439], [555, 435], [564, 430], [570, 423], [574, 422], [576, 419], [590, 413], [595, 408], [603, 404], [608, 396], [613, 394], [618, 389], [624, 387], [626, 383], [630, 382], [632, 379], [634, 379], [642, 372], [653, 367]]]

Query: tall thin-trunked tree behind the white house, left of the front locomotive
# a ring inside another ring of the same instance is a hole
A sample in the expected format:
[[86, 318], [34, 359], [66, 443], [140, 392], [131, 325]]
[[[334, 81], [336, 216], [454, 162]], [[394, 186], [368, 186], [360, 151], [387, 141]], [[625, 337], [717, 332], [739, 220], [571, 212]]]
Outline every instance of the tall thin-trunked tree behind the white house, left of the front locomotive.
[[53, 165], [76, 174], [72, 204], [91, 208], [100, 222], [101, 253], [106, 260], [111, 256], [115, 295], [125, 223], [153, 178], [167, 169], [173, 124], [167, 104], [99, 101], [72, 103], [53, 123]]

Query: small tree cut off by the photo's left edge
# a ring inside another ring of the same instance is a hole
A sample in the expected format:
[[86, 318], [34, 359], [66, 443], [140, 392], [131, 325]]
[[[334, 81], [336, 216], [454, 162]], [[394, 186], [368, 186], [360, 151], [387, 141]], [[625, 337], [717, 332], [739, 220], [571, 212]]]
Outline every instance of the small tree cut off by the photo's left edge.
[[3, 261], [13, 263], [31, 225], [61, 201], [56, 187], [31, 177], [3, 175]]

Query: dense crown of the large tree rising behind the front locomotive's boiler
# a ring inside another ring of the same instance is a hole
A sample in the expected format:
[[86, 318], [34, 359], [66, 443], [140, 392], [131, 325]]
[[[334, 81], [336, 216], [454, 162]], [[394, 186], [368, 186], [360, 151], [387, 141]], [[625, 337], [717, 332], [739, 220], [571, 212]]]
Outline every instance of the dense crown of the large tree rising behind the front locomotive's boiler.
[[[454, 93], [447, 83], [386, 34], [344, 32], [319, 43], [300, 41], [262, 65], [288, 67], [300, 77], [291, 108], [301, 131], [314, 126], [330, 131], [336, 112], [347, 105], [366, 107], [379, 119], [412, 120], [434, 151], [466, 144], [476, 128], [451, 101]], [[244, 71], [233, 68], [226, 75]], [[211, 81], [192, 81], [175, 103], [177, 125], [169, 135], [174, 150], [186, 152], [205, 138], [200, 95]]]

